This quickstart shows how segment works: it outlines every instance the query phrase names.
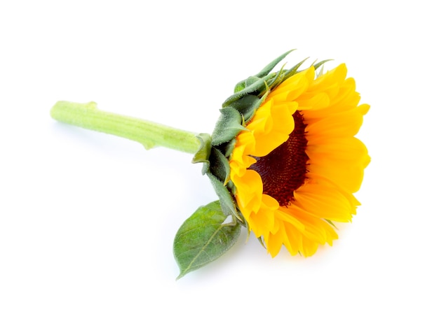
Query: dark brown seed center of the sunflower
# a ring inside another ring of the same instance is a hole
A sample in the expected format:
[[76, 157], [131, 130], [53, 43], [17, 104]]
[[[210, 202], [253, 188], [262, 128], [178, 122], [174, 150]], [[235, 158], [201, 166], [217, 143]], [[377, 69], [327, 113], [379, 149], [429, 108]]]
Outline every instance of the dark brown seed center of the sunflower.
[[308, 143], [305, 137], [306, 124], [299, 111], [292, 117], [295, 129], [288, 140], [269, 155], [255, 157], [257, 162], [250, 166], [262, 178], [263, 193], [274, 197], [281, 206], [287, 206], [293, 201], [295, 190], [304, 184], [309, 160], [305, 152]]

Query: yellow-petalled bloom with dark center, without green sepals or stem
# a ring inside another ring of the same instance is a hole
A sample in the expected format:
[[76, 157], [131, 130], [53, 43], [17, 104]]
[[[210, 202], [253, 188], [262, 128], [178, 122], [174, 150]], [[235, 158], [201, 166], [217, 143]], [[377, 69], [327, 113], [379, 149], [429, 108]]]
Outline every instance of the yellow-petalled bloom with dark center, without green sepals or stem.
[[369, 110], [344, 64], [316, 78], [296, 73], [264, 99], [236, 136], [229, 159], [236, 204], [271, 256], [281, 246], [313, 255], [349, 222], [370, 162], [354, 136]]

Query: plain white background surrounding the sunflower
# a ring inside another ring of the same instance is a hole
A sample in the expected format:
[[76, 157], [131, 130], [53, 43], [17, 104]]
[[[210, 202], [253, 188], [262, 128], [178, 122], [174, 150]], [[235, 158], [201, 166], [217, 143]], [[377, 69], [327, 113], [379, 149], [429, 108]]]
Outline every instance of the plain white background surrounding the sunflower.
[[[1, 1], [0, 313], [438, 313], [433, 1]], [[210, 132], [291, 48], [370, 104], [363, 206], [310, 258], [245, 231], [176, 281], [175, 231], [216, 199], [191, 156], [51, 120], [58, 100]]]

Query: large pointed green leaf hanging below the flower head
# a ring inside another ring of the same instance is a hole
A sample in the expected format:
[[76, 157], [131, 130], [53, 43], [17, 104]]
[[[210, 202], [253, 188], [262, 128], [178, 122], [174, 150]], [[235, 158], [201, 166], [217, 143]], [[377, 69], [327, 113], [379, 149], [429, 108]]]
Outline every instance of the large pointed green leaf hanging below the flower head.
[[199, 207], [178, 229], [174, 239], [174, 257], [182, 278], [223, 255], [238, 240], [241, 225], [223, 224], [227, 216], [219, 201]]

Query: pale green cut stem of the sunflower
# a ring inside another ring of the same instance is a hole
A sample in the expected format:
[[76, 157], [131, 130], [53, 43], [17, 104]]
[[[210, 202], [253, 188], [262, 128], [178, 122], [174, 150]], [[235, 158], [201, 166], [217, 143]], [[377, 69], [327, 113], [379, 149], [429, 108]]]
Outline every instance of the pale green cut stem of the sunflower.
[[145, 148], [163, 146], [181, 152], [195, 154], [200, 147], [196, 134], [167, 127], [146, 120], [107, 113], [96, 108], [96, 103], [78, 104], [58, 101], [50, 115], [53, 119], [68, 124], [100, 131], [137, 141]]

